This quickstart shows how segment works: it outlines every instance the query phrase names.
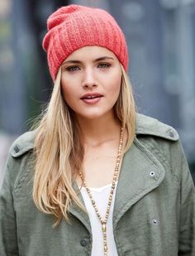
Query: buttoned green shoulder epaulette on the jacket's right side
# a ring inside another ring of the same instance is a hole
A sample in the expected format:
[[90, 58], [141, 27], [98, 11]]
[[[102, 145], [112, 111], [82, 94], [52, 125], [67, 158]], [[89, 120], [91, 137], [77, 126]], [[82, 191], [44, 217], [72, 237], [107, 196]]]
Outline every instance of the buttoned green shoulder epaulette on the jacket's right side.
[[179, 138], [178, 132], [173, 127], [144, 114], [136, 114], [136, 135], [150, 135], [171, 141], [178, 141]]

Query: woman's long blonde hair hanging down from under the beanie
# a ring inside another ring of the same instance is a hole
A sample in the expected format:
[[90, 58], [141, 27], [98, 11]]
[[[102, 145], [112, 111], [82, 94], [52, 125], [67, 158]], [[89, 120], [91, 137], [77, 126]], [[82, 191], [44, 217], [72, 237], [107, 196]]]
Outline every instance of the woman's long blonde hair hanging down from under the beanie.
[[[136, 108], [130, 81], [121, 65], [121, 91], [114, 106], [121, 126], [127, 130], [124, 152], [135, 137]], [[61, 94], [61, 68], [45, 113], [38, 125], [35, 141], [33, 200], [45, 214], [55, 215], [55, 225], [69, 221], [69, 206], [85, 210], [74, 191], [73, 182], [82, 167], [83, 145], [74, 115]]]

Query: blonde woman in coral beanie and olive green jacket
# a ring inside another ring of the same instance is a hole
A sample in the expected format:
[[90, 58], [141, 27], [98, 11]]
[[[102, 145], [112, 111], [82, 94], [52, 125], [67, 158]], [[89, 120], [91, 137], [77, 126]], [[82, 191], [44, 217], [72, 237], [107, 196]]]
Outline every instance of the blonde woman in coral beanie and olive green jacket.
[[136, 114], [117, 22], [61, 7], [43, 47], [54, 90], [36, 130], [9, 153], [1, 255], [195, 255], [195, 193], [178, 133]]

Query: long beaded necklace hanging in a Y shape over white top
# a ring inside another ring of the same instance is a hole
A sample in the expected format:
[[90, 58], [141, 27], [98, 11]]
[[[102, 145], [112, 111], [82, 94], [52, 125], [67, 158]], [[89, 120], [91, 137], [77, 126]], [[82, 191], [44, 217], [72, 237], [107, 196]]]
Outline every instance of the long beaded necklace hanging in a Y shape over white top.
[[116, 167], [115, 167], [115, 171], [114, 171], [114, 176], [112, 179], [112, 187], [111, 187], [111, 191], [110, 191], [109, 198], [108, 198], [107, 211], [106, 211], [106, 215], [105, 215], [104, 219], [102, 218], [102, 216], [99, 213], [96, 202], [95, 202], [95, 200], [93, 200], [92, 192], [88, 188], [88, 186], [84, 180], [82, 172], [79, 171], [79, 176], [81, 177], [81, 180], [83, 181], [83, 186], [85, 187], [86, 191], [88, 192], [88, 196], [92, 202], [93, 208], [94, 208], [94, 210], [98, 216], [98, 219], [102, 225], [103, 256], [107, 256], [107, 219], [108, 219], [109, 212], [111, 210], [112, 198], [113, 198], [114, 190], [116, 187], [116, 181], [117, 181], [119, 166], [120, 166], [120, 162], [121, 162], [122, 142], [123, 142], [123, 128], [121, 128], [120, 142], [119, 142], [118, 152], [117, 152], [117, 162], [116, 162]]

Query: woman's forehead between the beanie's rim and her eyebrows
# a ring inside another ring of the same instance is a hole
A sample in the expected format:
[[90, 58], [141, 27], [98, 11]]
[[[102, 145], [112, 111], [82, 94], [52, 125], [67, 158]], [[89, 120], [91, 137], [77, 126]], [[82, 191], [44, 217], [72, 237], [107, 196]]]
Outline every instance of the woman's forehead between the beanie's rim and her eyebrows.
[[96, 60], [102, 56], [112, 57], [114, 60], [117, 60], [117, 56], [112, 51], [101, 46], [83, 46], [70, 54], [65, 60]]

